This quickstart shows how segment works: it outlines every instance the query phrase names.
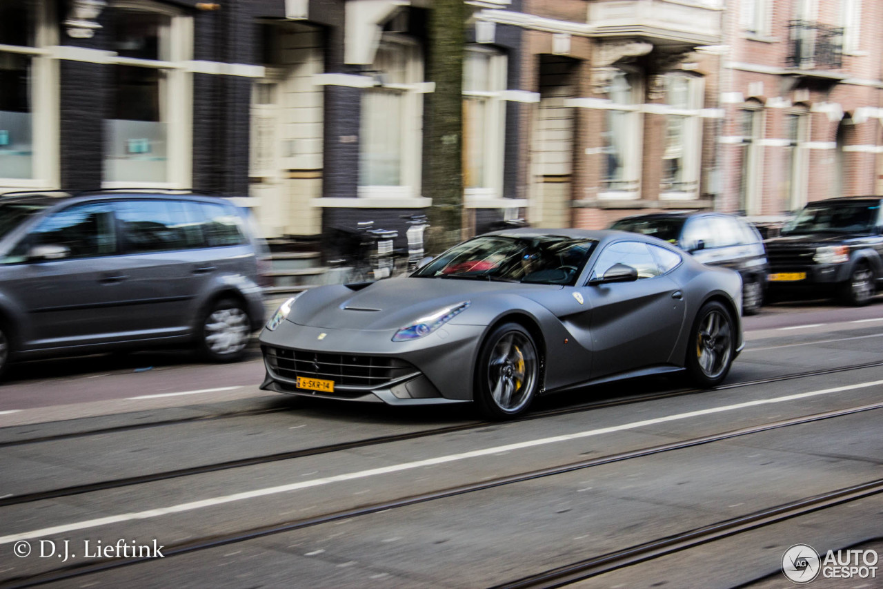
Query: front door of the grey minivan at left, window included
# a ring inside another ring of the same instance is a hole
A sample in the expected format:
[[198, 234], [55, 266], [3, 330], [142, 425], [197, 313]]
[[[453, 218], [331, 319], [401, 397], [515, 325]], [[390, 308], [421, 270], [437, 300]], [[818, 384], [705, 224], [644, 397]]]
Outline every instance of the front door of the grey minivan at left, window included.
[[103, 343], [126, 329], [119, 304], [125, 261], [117, 248], [110, 205], [82, 203], [49, 214], [11, 249], [4, 293], [24, 311], [23, 348]]

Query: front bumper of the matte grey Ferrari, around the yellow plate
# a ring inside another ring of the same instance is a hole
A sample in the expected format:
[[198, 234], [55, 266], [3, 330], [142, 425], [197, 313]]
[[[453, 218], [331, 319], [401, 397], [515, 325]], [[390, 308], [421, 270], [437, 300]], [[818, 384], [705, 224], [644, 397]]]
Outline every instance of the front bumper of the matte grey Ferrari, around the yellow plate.
[[[472, 367], [483, 332], [475, 325], [445, 325], [418, 340], [392, 341], [395, 332], [323, 330], [285, 321], [260, 333], [267, 372], [260, 388], [389, 405], [472, 401]], [[299, 388], [298, 376], [332, 380], [334, 392]]]

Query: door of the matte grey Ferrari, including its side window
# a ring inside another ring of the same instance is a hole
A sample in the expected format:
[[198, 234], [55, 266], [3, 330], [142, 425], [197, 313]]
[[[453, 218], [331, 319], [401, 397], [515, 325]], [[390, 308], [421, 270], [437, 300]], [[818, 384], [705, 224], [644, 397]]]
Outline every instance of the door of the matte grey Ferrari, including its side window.
[[[594, 377], [668, 363], [681, 332], [683, 292], [652, 248], [641, 241], [615, 241], [603, 249], [582, 289], [591, 299]], [[668, 249], [669, 256], [679, 256]], [[679, 262], [679, 257], [678, 257]], [[592, 285], [614, 264], [638, 270], [638, 279]]]

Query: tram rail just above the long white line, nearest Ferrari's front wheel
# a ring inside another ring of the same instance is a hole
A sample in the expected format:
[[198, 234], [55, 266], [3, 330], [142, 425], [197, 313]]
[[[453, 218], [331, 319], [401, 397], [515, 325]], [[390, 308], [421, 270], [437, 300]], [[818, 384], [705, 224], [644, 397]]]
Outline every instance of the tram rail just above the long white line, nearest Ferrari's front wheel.
[[[653, 393], [653, 394], [645, 394], [639, 396], [631, 396], [627, 398], [621, 399], [612, 399], [612, 400], [602, 400], [597, 402], [589, 402], [589, 403], [581, 403], [577, 406], [570, 406], [561, 409], [547, 409], [543, 411], [532, 412], [531, 414], [521, 417], [517, 421], [529, 421], [534, 419], [540, 419], [544, 417], [556, 417], [556, 416], [564, 416], [580, 413], [583, 411], [588, 411], [591, 409], [604, 409], [608, 407], [618, 407], [623, 405], [630, 405], [639, 402], [648, 402], [655, 401], [660, 399], [668, 399], [673, 397], [679, 397], [687, 394], [701, 394], [714, 390], [729, 390], [733, 388], [740, 388], [745, 386], [758, 386], [758, 385], [766, 385], [775, 382], [781, 382], [784, 380], [790, 379], [802, 379], [802, 378], [811, 378], [815, 376], [823, 376], [826, 374], [834, 374], [838, 372], [844, 371], [855, 371], [855, 370], [863, 370], [867, 368], [876, 368], [883, 366], [883, 362], [877, 363], [864, 363], [857, 364], [855, 366], [849, 367], [839, 367], [834, 369], [825, 369], [819, 371], [808, 371], [799, 374], [791, 374], [781, 377], [770, 377], [767, 379], [756, 379], [751, 381], [745, 381], [741, 383], [732, 383], [729, 385], [717, 386], [713, 389], [678, 389], [674, 391], [667, 391], [661, 393]], [[429, 430], [423, 430], [420, 432], [408, 432], [408, 433], [400, 433], [400, 434], [392, 434], [392, 435], [384, 435], [377, 436], [373, 438], [368, 438], [365, 440], [352, 440], [347, 442], [339, 442], [336, 444], [328, 444], [319, 447], [310, 447], [310, 448], [302, 448], [298, 450], [288, 450], [283, 452], [276, 452], [269, 455], [260, 455], [253, 456], [248, 458], [240, 458], [236, 460], [223, 461], [219, 463], [210, 463], [204, 464], [200, 466], [193, 466], [181, 469], [173, 469], [173, 470], [163, 470], [161, 472], [142, 474], [134, 477], [123, 477], [116, 478], [108, 481], [96, 482], [96, 483], [87, 483], [82, 485], [74, 485], [74, 486], [64, 486], [58, 487], [56, 489], [50, 489], [47, 491], [38, 491], [34, 493], [21, 493], [21, 494], [12, 494], [9, 496], [5, 496], [0, 498], [0, 508], [8, 507], [11, 505], [19, 505], [23, 503], [30, 503], [34, 501], [45, 501], [48, 499], [57, 499], [61, 497], [69, 497], [72, 495], [79, 495], [83, 493], [94, 493], [99, 491], [107, 491], [110, 489], [117, 489], [126, 486], [137, 486], [143, 485], [146, 483], [152, 483], [156, 481], [169, 480], [172, 478], [182, 478], [182, 477], [190, 477], [198, 474], [204, 474], [208, 472], [217, 472], [222, 470], [233, 470], [238, 468], [244, 468], [248, 466], [258, 466], [260, 464], [267, 463], [275, 463], [284, 460], [291, 460], [294, 458], [303, 458], [306, 456], [316, 456], [316, 455], [324, 455], [330, 454], [334, 452], [340, 452], [344, 450], [353, 450], [358, 448], [366, 448], [366, 447], [375, 447], [382, 444], [389, 444], [393, 442], [407, 441], [407, 440], [419, 440], [422, 438], [428, 438], [437, 435], [444, 435], [448, 433], [455, 432], [465, 432], [470, 430], [477, 430], [489, 425], [495, 425], [498, 422], [470, 422], [467, 424], [461, 425], [449, 425], [445, 427], [433, 428]], [[54, 439], [53, 439], [54, 440]], [[45, 441], [45, 440], [43, 440]], [[34, 442], [36, 443], [36, 442]], [[20, 445], [20, 444], [16, 444]], [[2, 445], [0, 445], [2, 447]]]

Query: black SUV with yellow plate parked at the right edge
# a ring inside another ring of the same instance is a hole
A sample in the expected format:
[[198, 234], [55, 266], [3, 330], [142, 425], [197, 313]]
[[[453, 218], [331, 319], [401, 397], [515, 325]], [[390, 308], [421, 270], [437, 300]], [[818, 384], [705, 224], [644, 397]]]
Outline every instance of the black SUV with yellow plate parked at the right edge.
[[864, 305], [883, 279], [883, 199], [847, 196], [807, 204], [766, 241], [773, 295], [819, 291]]

